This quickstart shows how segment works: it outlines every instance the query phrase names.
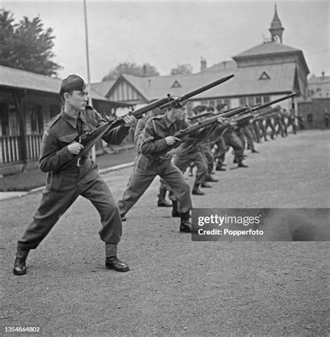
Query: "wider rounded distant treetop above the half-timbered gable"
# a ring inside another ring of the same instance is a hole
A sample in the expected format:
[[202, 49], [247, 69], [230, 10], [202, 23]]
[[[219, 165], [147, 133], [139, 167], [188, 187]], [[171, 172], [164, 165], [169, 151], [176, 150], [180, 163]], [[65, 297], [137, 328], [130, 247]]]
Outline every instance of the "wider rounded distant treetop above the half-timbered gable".
[[107, 76], [104, 76], [102, 81], [116, 80], [121, 74], [134, 75], [134, 76], [159, 76], [157, 68], [149, 63], [144, 65], [137, 65], [134, 62], [119, 63], [115, 68], [110, 69]]

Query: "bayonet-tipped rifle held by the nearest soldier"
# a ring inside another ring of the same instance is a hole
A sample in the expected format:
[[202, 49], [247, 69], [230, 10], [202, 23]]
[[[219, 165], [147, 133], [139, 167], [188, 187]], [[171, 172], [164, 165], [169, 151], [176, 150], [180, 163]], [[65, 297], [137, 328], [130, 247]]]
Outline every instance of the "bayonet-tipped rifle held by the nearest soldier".
[[171, 96], [171, 94], [168, 94], [167, 97], [164, 97], [162, 99], [158, 99], [155, 102], [147, 104], [143, 108], [139, 108], [137, 110], [131, 111], [130, 113], [127, 113], [126, 115], [117, 117], [115, 120], [111, 120], [109, 122], [106, 122], [93, 131], [86, 131], [86, 133], [84, 133], [84, 135], [81, 135], [79, 137], [79, 142], [81, 142], [81, 144], [84, 145], [84, 149], [82, 149], [79, 152], [79, 154], [77, 154], [77, 156], [74, 156], [74, 158], [72, 158], [71, 161], [69, 161], [68, 163], [65, 163], [60, 168], [62, 169], [63, 167], [67, 167], [67, 166], [71, 165], [72, 163], [74, 163], [74, 161], [76, 161], [76, 160], [79, 161], [79, 158], [84, 156], [84, 154], [86, 154], [96, 144], [96, 142], [98, 140], [100, 140], [106, 133], [108, 133], [109, 131], [111, 131], [112, 129], [115, 129], [116, 127], [118, 127], [120, 125], [125, 124], [124, 118], [126, 116], [132, 115], [132, 116], [136, 117], [137, 119], [139, 119], [143, 116], [144, 113], [148, 113], [148, 111], [153, 110], [155, 108], [160, 108], [160, 109], [171, 108], [171, 107], [175, 108], [175, 104], [186, 101], [187, 99], [195, 96], [196, 94], [200, 94], [201, 92], [204, 92], [206, 90], [214, 88], [215, 86], [217, 86], [221, 83], [224, 83], [224, 82], [228, 81], [229, 79], [231, 79], [233, 77], [234, 77], [234, 75], [229, 75], [229, 76], [223, 77], [223, 78], [221, 78], [217, 81], [214, 81], [210, 84], [204, 85], [201, 88], [193, 90], [193, 91], [189, 92], [188, 94], [184, 94], [181, 97], [175, 97], [174, 98], [174, 97]]

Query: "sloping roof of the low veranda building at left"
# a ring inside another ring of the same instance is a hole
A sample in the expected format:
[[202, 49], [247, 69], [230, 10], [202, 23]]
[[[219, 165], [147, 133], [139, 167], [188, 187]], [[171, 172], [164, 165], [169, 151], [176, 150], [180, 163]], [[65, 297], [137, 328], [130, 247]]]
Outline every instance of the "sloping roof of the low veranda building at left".
[[[50, 76], [0, 65], [0, 86], [58, 94], [61, 87], [61, 81], [61, 79], [54, 79]], [[106, 97], [103, 97], [93, 90], [93, 88], [91, 89], [89, 96], [100, 101], [109, 101]]]

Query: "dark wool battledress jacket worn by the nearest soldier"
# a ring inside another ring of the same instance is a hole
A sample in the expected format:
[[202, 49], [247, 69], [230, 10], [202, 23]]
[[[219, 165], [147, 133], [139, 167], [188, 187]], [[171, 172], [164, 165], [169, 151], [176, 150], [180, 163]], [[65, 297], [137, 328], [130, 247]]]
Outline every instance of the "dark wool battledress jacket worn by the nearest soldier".
[[[97, 113], [91, 106], [86, 106], [85, 110], [79, 111], [78, 118], [82, 122], [81, 133], [92, 131], [106, 123], [100, 113]], [[109, 144], [118, 145], [123, 142], [128, 132], [129, 127], [118, 126], [116, 129], [106, 133], [102, 139]], [[68, 145], [77, 140], [78, 135], [77, 120], [67, 115], [64, 109], [47, 124], [42, 136], [39, 157], [40, 170], [48, 172], [47, 188], [61, 190], [65, 175], [73, 177], [71, 180], [76, 181], [79, 179], [79, 181], [83, 182], [91, 181], [98, 175], [97, 165], [87, 155], [84, 156], [81, 167], [77, 167], [77, 161], [63, 167], [74, 158], [68, 149]]]

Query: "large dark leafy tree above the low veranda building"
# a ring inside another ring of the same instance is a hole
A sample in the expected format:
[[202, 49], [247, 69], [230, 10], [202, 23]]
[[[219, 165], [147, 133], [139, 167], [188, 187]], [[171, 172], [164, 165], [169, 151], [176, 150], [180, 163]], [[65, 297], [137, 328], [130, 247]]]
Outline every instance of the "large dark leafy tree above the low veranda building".
[[53, 30], [44, 29], [40, 17], [32, 20], [24, 17], [15, 24], [13, 14], [3, 8], [0, 10], [0, 28], [0, 65], [57, 75], [61, 66], [52, 61]]

